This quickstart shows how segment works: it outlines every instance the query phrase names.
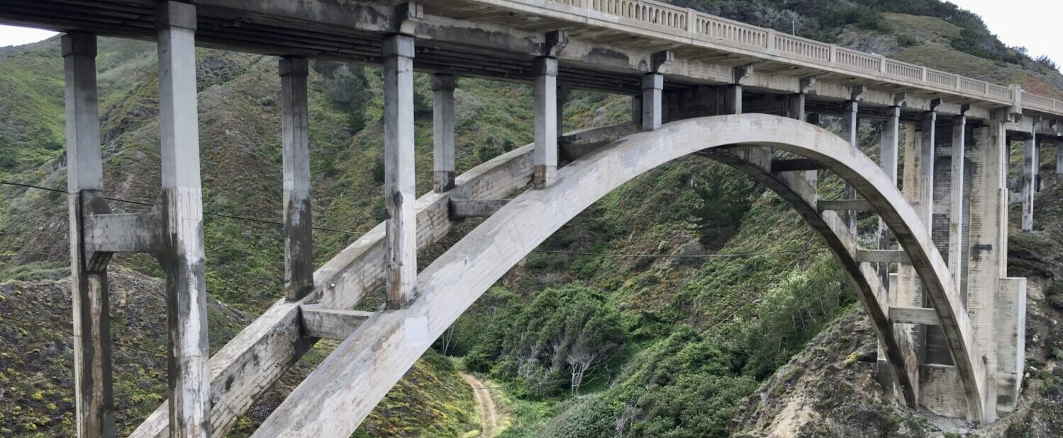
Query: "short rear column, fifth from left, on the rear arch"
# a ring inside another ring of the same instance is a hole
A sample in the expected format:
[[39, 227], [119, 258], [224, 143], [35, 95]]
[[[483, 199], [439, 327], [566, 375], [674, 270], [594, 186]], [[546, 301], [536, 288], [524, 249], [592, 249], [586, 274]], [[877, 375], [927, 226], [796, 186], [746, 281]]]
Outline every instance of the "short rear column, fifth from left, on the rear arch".
[[436, 192], [454, 188], [454, 76], [432, 76], [432, 157]]

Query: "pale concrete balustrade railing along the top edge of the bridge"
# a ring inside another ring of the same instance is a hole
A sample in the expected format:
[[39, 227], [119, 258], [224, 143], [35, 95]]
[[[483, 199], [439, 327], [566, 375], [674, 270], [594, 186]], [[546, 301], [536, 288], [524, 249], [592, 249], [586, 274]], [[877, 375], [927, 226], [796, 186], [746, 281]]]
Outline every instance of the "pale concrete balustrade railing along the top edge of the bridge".
[[[709, 42], [736, 49], [754, 50], [765, 55], [797, 62], [812, 62], [843, 71], [878, 74], [926, 86], [955, 91], [1002, 104], [1014, 104], [1014, 91], [959, 74], [904, 63], [888, 57], [840, 48], [808, 38], [778, 33], [743, 22], [729, 20], [691, 8], [655, 0], [510, 0], [546, 6], [558, 12], [581, 15], [589, 19], [627, 24], [668, 35], [690, 38], [691, 42]], [[1023, 103], [1030, 108], [1063, 115], [1063, 103], [1053, 99], [1023, 92]]]

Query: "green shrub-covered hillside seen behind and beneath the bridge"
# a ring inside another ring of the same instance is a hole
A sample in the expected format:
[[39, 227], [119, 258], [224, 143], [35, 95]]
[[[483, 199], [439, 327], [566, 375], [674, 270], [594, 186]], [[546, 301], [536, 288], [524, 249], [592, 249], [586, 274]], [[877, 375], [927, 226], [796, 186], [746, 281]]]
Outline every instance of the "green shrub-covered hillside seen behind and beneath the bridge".
[[[1063, 98], [1063, 75], [1000, 45], [977, 17], [935, 0], [674, 3], [787, 32], [794, 25], [803, 36]], [[154, 45], [100, 41], [108, 196], [153, 203], [158, 191], [154, 63]], [[282, 296], [277, 227], [209, 215], [281, 218], [280, 81], [276, 59], [268, 56], [201, 49], [197, 67], [207, 288], [215, 299], [210, 341], [217, 349]], [[62, 76], [56, 39], [0, 49], [0, 179], [65, 187]], [[416, 87], [417, 189], [424, 193], [432, 169], [427, 76], [417, 75]], [[319, 264], [384, 218], [381, 93], [378, 69], [313, 64], [314, 217], [338, 230], [315, 232]], [[529, 87], [461, 78], [456, 99], [459, 173], [532, 140]], [[566, 128], [624, 123], [628, 108], [625, 97], [573, 92]], [[824, 118], [823, 124], [838, 122]], [[865, 122], [861, 142], [874, 153], [877, 125]], [[841, 192], [834, 179], [822, 187]], [[1039, 218], [1059, 211], [1063, 200], [1052, 190], [1040, 200]], [[13, 319], [24, 315], [70, 327], [66, 204], [58, 193], [2, 185], [0, 199], [0, 390], [6, 391], [0, 392], [0, 435], [68, 436], [67, 335]], [[876, 223], [864, 217], [860, 225], [870, 231]], [[476, 224], [469, 220], [459, 228]], [[507, 274], [355, 436], [475, 434], [473, 392], [459, 370], [499, 385], [512, 410], [503, 438], [754, 434], [796, 428], [790, 414], [805, 401], [814, 401], [815, 417], [802, 427], [813, 436], [889, 436], [916, 424], [931, 431], [922, 416], [875, 391], [870, 328], [810, 231], [786, 203], [723, 165], [688, 157], [661, 167], [593, 205]], [[1036, 395], [1025, 402], [1031, 407], [1006, 423], [1017, 421], [1027, 432], [1011, 436], [1052, 436], [1052, 424], [1061, 421], [1053, 414], [1061, 380], [1043, 370], [1053, 370], [1059, 358], [1046, 343], [1056, 330], [1048, 321], [1059, 316], [1051, 305], [1063, 302], [1051, 298], [1059, 295], [1052, 279], [1063, 271], [1049, 257], [1063, 252], [1045, 242], [1061, 242], [1063, 229], [1037, 232], [1016, 235], [1012, 250], [1023, 251], [1013, 255], [1017, 266], [1043, 278], [1034, 282], [1042, 298], [1031, 286], [1031, 299], [1040, 301], [1030, 308], [1044, 313], [1031, 317], [1041, 322], [1031, 325], [1036, 339], [1029, 345], [1037, 345], [1031, 366], [1042, 370], [1042, 388], [1048, 389], [1028, 391]], [[436, 245], [421, 260], [443, 250]], [[119, 422], [128, 431], [164, 397], [162, 273], [148, 257], [123, 257], [114, 265], [115, 294], [126, 297], [115, 300], [113, 313], [121, 343], [115, 348]], [[333, 347], [315, 349], [236, 435], [253, 430]], [[846, 399], [817, 386], [825, 372], [840, 373], [846, 388], [868, 397], [858, 405], [829, 405]], [[864, 428], [851, 428], [857, 426]]]

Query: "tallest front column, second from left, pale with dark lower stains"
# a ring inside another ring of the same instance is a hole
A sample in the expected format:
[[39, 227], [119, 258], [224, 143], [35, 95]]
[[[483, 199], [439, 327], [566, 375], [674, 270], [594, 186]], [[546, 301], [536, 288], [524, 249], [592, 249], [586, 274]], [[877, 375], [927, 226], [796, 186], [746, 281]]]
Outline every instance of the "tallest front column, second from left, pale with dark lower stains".
[[196, 90], [196, 6], [167, 1], [158, 29], [163, 239], [169, 326], [170, 437], [210, 436], [203, 194]]

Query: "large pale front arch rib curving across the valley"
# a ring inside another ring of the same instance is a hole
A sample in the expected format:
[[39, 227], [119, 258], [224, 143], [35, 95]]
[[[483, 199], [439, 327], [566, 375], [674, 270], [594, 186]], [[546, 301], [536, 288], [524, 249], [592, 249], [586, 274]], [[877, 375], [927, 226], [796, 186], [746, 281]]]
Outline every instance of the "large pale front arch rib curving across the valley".
[[963, 382], [968, 416], [991, 416], [984, 414], [991, 409], [982, 400], [985, 370], [947, 265], [892, 180], [825, 129], [776, 116], [737, 115], [685, 120], [631, 135], [573, 161], [559, 171], [553, 186], [516, 197], [418, 275], [419, 296], [408, 308], [375, 314], [344, 340], [254, 436], [349, 436], [448, 327], [576, 214], [664, 162], [732, 144], [767, 145], [810, 158], [868, 200], [923, 279]]

